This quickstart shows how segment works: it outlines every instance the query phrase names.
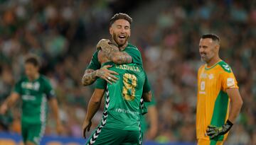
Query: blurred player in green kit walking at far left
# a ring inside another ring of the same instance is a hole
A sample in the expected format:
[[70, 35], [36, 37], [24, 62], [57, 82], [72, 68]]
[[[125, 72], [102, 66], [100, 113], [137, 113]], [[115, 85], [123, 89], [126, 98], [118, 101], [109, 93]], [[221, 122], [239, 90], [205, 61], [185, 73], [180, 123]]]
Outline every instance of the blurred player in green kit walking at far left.
[[47, 100], [53, 110], [58, 133], [63, 131], [58, 113], [58, 102], [50, 81], [39, 74], [39, 61], [30, 55], [25, 60], [25, 74], [14, 86], [14, 91], [1, 105], [0, 112], [13, 107], [18, 99], [22, 100], [21, 135], [26, 145], [40, 144], [46, 129], [48, 112]]

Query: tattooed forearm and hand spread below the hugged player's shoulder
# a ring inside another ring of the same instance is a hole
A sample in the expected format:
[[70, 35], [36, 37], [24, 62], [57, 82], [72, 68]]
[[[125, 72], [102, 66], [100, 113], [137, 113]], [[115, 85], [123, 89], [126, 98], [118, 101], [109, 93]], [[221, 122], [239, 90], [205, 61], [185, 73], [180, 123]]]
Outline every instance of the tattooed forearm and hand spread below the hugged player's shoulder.
[[82, 76], [82, 85], [88, 86], [95, 82], [98, 77], [105, 79], [110, 84], [112, 84], [112, 82], [117, 81], [117, 77], [113, 75], [117, 73], [115, 71], [107, 69], [110, 67], [111, 65], [106, 65], [103, 66], [101, 69], [97, 69], [96, 71], [93, 69], [86, 69], [85, 74]]

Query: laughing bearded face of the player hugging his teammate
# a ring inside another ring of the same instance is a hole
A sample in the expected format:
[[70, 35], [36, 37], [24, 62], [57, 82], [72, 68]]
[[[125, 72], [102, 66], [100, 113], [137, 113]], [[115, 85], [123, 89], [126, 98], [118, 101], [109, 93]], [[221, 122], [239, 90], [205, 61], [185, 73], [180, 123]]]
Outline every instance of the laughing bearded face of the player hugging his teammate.
[[124, 19], [114, 21], [114, 23], [110, 26], [110, 34], [112, 35], [114, 42], [117, 43], [118, 47], [124, 46], [127, 44], [127, 40], [131, 35], [129, 22]]

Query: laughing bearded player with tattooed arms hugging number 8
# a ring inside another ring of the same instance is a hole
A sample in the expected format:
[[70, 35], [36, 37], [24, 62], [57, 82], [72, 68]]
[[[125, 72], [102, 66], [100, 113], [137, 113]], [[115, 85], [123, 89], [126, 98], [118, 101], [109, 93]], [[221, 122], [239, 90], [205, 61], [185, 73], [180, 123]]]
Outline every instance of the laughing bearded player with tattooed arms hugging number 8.
[[[142, 66], [142, 55], [138, 48], [128, 42], [131, 35], [130, 25], [132, 18], [126, 13], [116, 13], [110, 19], [110, 35], [112, 42], [118, 46], [119, 50], [112, 47], [102, 47], [108, 59], [114, 64], [139, 64]], [[97, 59], [98, 50], [92, 55], [90, 64], [82, 76], [82, 85], [87, 86], [96, 81], [97, 78], [105, 79], [108, 83], [117, 81], [116, 72], [108, 70], [111, 65], [100, 68], [100, 62]]]

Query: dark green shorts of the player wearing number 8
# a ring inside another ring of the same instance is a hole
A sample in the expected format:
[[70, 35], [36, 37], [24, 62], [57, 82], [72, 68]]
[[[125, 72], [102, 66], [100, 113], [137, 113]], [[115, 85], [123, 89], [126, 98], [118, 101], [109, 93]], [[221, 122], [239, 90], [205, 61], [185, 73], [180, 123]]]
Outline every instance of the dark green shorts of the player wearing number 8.
[[140, 142], [140, 132], [135, 130], [123, 130], [114, 128], [97, 127], [86, 145], [138, 145]]

